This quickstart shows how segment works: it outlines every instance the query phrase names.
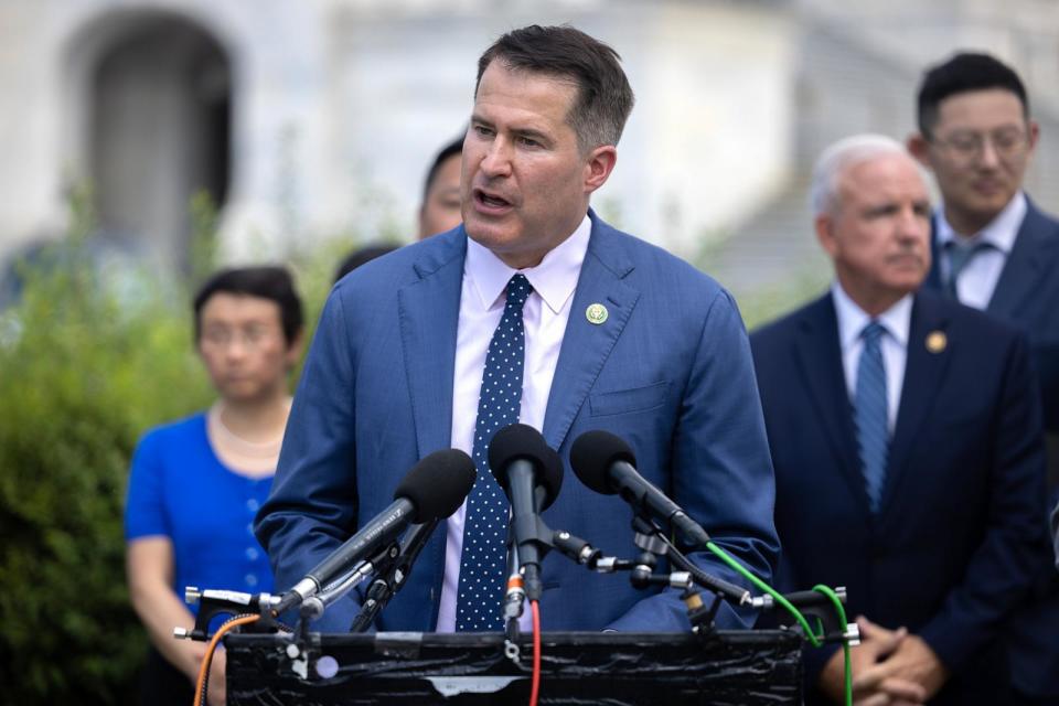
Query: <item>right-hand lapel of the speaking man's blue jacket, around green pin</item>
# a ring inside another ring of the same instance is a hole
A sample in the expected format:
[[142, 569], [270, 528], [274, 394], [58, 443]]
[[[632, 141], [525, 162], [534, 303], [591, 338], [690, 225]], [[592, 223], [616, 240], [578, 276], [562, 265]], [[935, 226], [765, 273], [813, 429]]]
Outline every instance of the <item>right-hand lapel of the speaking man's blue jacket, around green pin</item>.
[[[566, 439], [588, 391], [603, 368], [607, 356], [640, 298], [639, 290], [622, 281], [633, 270], [633, 264], [620, 239], [595, 213], [590, 211], [589, 215], [592, 218], [592, 234], [577, 279], [570, 318], [544, 415], [542, 432], [554, 449], [558, 449]], [[590, 323], [586, 318], [586, 310], [593, 303], [607, 308], [607, 320], [600, 325]]]

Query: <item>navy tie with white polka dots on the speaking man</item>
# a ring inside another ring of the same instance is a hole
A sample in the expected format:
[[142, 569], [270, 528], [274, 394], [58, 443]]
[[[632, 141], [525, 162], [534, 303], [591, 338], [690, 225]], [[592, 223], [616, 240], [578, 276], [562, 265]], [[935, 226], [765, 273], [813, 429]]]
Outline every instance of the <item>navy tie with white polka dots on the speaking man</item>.
[[474, 422], [478, 479], [467, 499], [463, 554], [456, 599], [457, 631], [501, 630], [501, 602], [507, 569], [507, 496], [489, 470], [489, 442], [498, 429], [518, 421], [525, 329], [522, 308], [533, 287], [523, 275], [507, 282], [504, 315], [493, 332], [482, 371]]

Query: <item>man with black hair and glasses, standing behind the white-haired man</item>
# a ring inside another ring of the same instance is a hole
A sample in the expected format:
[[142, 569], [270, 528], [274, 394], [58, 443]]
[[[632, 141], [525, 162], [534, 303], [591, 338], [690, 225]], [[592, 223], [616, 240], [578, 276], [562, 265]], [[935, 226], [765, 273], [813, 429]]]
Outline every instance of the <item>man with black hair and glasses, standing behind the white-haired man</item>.
[[[1027, 335], [1037, 366], [1048, 448], [1044, 525], [1059, 502], [1059, 222], [1023, 192], [1039, 128], [1026, 88], [986, 54], [931, 67], [909, 149], [937, 178], [933, 266], [927, 287], [1003, 319]], [[1059, 704], [1059, 574], [1040, 545], [1034, 597], [1012, 619], [1013, 704]]]

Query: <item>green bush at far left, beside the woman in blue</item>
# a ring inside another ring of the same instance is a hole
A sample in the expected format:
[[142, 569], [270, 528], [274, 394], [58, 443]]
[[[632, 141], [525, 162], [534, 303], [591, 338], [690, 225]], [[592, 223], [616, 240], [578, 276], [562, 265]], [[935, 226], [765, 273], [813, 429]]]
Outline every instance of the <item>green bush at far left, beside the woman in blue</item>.
[[146, 653], [124, 570], [130, 454], [147, 428], [211, 398], [188, 297], [94, 264], [88, 221], [23, 268], [20, 303], [0, 313], [6, 703], [129, 700]]

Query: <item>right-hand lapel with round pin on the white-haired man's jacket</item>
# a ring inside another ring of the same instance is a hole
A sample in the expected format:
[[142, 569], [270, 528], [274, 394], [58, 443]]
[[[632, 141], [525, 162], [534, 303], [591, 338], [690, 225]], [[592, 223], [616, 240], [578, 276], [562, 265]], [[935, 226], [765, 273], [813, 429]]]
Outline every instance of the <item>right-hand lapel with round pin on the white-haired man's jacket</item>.
[[901, 478], [908, 473], [908, 461], [916, 439], [931, 418], [938, 391], [949, 367], [951, 352], [948, 345], [941, 350], [937, 350], [937, 344], [932, 349], [927, 346], [928, 336], [938, 333], [944, 335], [949, 325], [948, 317], [940, 311], [937, 301], [931, 295], [918, 293], [912, 302], [901, 402], [882, 489], [884, 513], [892, 502]]

